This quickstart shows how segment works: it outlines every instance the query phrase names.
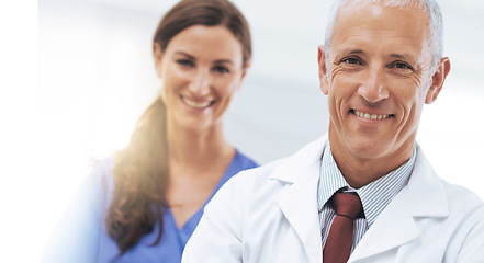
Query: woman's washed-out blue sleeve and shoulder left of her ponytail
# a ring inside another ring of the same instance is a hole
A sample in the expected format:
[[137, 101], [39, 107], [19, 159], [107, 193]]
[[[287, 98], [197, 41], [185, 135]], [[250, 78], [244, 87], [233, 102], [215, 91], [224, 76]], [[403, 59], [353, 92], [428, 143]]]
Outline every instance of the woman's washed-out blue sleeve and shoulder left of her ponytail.
[[112, 185], [114, 157], [94, 162], [92, 172], [76, 190], [43, 249], [41, 262], [94, 262], [102, 230], [102, 218]]

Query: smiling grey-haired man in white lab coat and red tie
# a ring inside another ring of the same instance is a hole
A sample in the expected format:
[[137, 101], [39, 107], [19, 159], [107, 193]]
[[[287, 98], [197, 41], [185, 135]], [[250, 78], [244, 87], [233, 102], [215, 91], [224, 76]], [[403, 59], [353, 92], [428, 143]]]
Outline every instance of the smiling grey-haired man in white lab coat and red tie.
[[328, 28], [328, 135], [224, 185], [182, 262], [484, 262], [484, 203], [415, 141], [450, 71], [439, 7], [340, 0]]

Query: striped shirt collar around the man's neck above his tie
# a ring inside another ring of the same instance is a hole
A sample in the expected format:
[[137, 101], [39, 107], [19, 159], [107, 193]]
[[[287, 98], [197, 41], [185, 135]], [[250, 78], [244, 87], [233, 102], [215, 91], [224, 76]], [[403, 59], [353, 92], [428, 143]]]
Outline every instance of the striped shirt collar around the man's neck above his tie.
[[371, 227], [380, 213], [408, 183], [408, 179], [415, 163], [415, 158], [416, 148], [414, 147], [412, 157], [407, 162], [393, 170], [385, 176], [382, 176], [358, 190], [353, 190], [351, 186], [349, 186], [348, 182], [339, 171], [338, 165], [333, 158], [328, 141], [323, 151], [319, 183], [317, 186], [317, 203], [319, 211], [335, 192], [342, 187], [347, 187], [350, 191], [357, 192], [360, 196], [368, 227]]

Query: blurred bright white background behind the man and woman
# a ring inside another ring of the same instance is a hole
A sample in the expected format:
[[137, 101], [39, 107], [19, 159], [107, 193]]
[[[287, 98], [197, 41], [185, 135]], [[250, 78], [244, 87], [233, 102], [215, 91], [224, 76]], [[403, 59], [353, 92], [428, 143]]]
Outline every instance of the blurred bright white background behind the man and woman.
[[[0, 229], [9, 238], [0, 245], [12, 248], [12, 262], [36, 261], [93, 161], [126, 145], [160, 88], [151, 37], [177, 1], [32, 2], [1, 11], [11, 18], [1, 21], [11, 37], [0, 53], [10, 58], [0, 71], [0, 191], [9, 211]], [[327, 130], [316, 56], [330, 1], [234, 2], [251, 26], [254, 58], [226, 114], [226, 135], [263, 164]], [[442, 178], [484, 198], [484, 1], [439, 3], [452, 70], [439, 99], [424, 108], [418, 141]]]

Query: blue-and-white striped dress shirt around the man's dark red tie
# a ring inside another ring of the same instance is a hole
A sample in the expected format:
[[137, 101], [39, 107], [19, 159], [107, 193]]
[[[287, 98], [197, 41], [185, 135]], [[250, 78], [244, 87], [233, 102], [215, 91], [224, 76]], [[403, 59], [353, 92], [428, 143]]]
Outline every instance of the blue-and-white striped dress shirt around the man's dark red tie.
[[353, 240], [351, 252], [364, 236], [367, 230], [373, 225], [380, 213], [390, 204], [392, 198], [408, 183], [408, 179], [414, 168], [416, 148], [410, 159], [396, 170], [385, 176], [371, 182], [358, 190], [351, 188], [346, 182], [336, 164], [335, 159], [327, 142], [322, 158], [319, 183], [317, 186], [317, 204], [319, 208], [319, 224], [322, 229], [323, 249], [329, 233], [329, 228], [336, 217], [335, 209], [329, 198], [338, 191], [356, 192], [360, 196], [363, 213], [354, 220]]

